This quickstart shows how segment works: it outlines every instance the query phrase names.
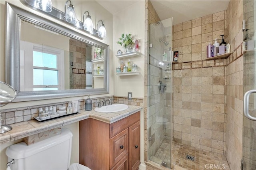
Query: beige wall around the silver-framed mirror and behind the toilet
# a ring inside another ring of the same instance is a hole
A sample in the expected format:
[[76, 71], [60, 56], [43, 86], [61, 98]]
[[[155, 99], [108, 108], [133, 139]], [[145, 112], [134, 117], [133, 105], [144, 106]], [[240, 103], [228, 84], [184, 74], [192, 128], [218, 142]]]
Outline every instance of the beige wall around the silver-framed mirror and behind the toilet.
[[[4, 0], [0, 1], [0, 80], [1, 81], [5, 81], [5, 51], [4, 51], [4, 46], [5, 46], [5, 2]], [[16, 6], [19, 6], [20, 8], [23, 8], [25, 10], [28, 10], [30, 12], [33, 12], [35, 14], [38, 14], [40, 16], [49, 18], [48, 16], [44, 16], [43, 14], [40, 14], [39, 12], [35, 12], [34, 10], [31, 10], [27, 7], [25, 7], [23, 4], [21, 4], [20, 1], [18, 0], [8, 0], [7, 2], [10, 2], [11, 4], [14, 4]], [[52, 5], [55, 8], [58, 8], [61, 11], [64, 11], [64, 4], [66, 1], [52, 1]], [[114, 74], [113, 74], [113, 70], [112, 69], [113, 66], [113, 58], [111, 57], [113, 55], [112, 53], [112, 49], [113, 49], [113, 18], [112, 18], [112, 14], [110, 14], [108, 11], [106, 11], [105, 8], [103, 8], [102, 6], [100, 6], [97, 2], [95, 1], [80, 1], [80, 0], [72, 0], [72, 4], [74, 5], [75, 11], [76, 11], [76, 16], [78, 18], [78, 20], [81, 21], [82, 18], [82, 14], [88, 10], [90, 12], [90, 15], [92, 16], [92, 21], [94, 23], [94, 28], [96, 27], [96, 23], [98, 22], [98, 20], [103, 20], [106, 30], [107, 30], [107, 38], [104, 38], [104, 40], [99, 40], [102, 41], [108, 45], [110, 45], [110, 93], [109, 95], [113, 95], [114, 94]], [[52, 19], [54, 20], [54, 19]], [[54, 20], [55, 22], [69, 27], [67, 24], [64, 24], [62, 22], [59, 22], [57, 20]], [[72, 28], [73, 29], [73, 28]], [[81, 31], [79, 31], [81, 32]], [[82, 34], [86, 34], [84, 32], [81, 32]], [[87, 35], [87, 34], [86, 34]], [[90, 36], [90, 35], [87, 35]], [[92, 37], [94, 38], [94, 37]], [[94, 38], [96, 39], [96, 38]], [[98, 40], [98, 39], [96, 39]], [[103, 97], [106, 95], [94, 95], [94, 97]], [[71, 97], [71, 98], [62, 98], [62, 99], [51, 99], [51, 100], [39, 100], [39, 101], [28, 101], [28, 102], [18, 102], [18, 103], [10, 103], [4, 107], [1, 107], [1, 109], [12, 109], [12, 108], [18, 108], [18, 107], [29, 107], [29, 106], [36, 106], [36, 105], [44, 105], [44, 104], [50, 104], [50, 103], [59, 103], [62, 101], [72, 101], [72, 100], [78, 100], [78, 99], [86, 99], [87, 97]], [[79, 146], [79, 127], [78, 127], [79, 123], [73, 123], [70, 124], [68, 126], [66, 126], [67, 128], [69, 128], [72, 132], [73, 132], [73, 141], [72, 141], [72, 155], [71, 155], [71, 162], [70, 163], [74, 163], [74, 162], [79, 162], [79, 150], [78, 150], [78, 146]], [[1, 162], [0, 162], [0, 169], [6, 169], [6, 163], [7, 163], [7, 157], [5, 155], [5, 151], [6, 151], [6, 147], [10, 146], [11, 144], [20, 142], [20, 140], [15, 141], [15, 142], [8, 142], [6, 144], [1, 144]]]

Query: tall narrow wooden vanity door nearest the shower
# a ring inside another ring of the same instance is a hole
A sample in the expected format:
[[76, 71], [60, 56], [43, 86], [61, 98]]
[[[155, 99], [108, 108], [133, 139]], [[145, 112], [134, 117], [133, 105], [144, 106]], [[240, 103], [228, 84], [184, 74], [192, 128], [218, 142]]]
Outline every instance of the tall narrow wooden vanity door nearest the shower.
[[129, 127], [129, 170], [136, 170], [140, 165], [140, 121]]

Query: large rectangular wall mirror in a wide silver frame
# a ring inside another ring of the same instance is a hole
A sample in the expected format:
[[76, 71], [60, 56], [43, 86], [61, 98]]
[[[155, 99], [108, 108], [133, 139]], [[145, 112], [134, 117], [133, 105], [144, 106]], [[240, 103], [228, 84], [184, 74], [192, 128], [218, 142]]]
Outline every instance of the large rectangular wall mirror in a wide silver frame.
[[9, 3], [6, 12], [6, 82], [16, 89], [14, 101], [109, 92], [109, 45]]

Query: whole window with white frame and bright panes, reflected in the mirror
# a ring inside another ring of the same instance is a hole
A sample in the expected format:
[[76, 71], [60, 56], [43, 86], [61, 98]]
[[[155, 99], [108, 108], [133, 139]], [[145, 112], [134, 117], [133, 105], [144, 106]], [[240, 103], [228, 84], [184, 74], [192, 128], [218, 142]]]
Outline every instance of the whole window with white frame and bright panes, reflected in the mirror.
[[64, 50], [30, 42], [22, 42], [20, 49], [21, 91], [64, 89]]

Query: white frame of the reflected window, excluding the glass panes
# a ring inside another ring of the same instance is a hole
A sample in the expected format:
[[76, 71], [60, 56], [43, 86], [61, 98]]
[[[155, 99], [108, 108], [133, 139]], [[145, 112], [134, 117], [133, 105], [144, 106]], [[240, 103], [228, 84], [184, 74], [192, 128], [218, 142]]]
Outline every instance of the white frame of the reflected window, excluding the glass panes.
[[[48, 67], [34, 67], [33, 66], [33, 51], [43, 53], [50, 53], [57, 56], [57, 69]], [[49, 70], [58, 70], [58, 84], [59, 85], [45, 85], [50, 88], [58, 88], [64, 90], [64, 50], [49, 47], [46, 45], [39, 45], [36, 43], [20, 41], [20, 91], [33, 91], [34, 88], [46, 88], [44, 85], [34, 85], [33, 83], [33, 69], [43, 68]]]

